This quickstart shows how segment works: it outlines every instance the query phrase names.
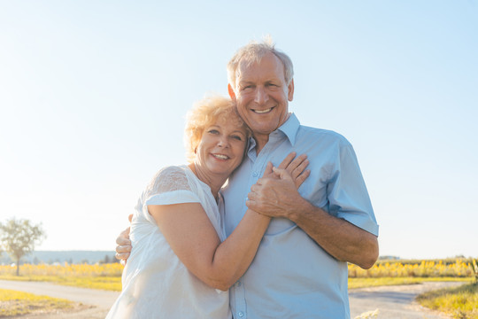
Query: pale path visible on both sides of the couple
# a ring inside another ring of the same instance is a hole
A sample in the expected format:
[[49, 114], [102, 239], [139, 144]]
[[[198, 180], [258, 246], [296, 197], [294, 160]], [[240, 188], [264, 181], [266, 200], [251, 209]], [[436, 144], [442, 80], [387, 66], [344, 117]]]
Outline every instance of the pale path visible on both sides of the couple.
[[[375, 309], [379, 309], [378, 319], [449, 318], [447, 316], [436, 314], [424, 307], [420, 307], [420, 305], [413, 300], [421, 292], [459, 284], [462, 283], [424, 283], [354, 289], [349, 292], [351, 318], [353, 319], [357, 315]], [[26, 315], [21, 317], [23, 319], [104, 318], [108, 313], [108, 309], [112, 307], [114, 300], [116, 300], [120, 294], [120, 292], [76, 288], [59, 284], [5, 280], [0, 280], [0, 288], [48, 295], [50, 297], [63, 298], [92, 306], [76, 313], [35, 316]]]

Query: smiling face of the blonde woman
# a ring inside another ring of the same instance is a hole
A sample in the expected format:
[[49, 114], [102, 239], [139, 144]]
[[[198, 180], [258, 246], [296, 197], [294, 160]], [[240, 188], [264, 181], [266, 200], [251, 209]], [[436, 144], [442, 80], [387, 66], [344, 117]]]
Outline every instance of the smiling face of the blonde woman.
[[197, 146], [196, 162], [204, 173], [227, 177], [243, 161], [246, 144], [244, 128], [226, 119], [219, 119], [204, 128]]

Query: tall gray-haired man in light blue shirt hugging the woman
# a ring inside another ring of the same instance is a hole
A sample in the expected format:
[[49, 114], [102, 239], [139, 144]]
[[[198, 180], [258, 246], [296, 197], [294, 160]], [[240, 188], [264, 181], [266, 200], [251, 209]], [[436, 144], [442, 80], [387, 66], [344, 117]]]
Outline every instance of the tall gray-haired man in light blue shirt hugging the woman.
[[[248, 206], [274, 217], [250, 268], [230, 289], [234, 317], [350, 318], [347, 262], [370, 268], [378, 257], [378, 225], [351, 144], [289, 113], [292, 62], [272, 43], [244, 46], [227, 73], [229, 95], [254, 135], [222, 191], [227, 236]], [[311, 175], [298, 191], [285, 183], [288, 175], [260, 178], [268, 161], [278, 165], [289, 152], [310, 161]]]

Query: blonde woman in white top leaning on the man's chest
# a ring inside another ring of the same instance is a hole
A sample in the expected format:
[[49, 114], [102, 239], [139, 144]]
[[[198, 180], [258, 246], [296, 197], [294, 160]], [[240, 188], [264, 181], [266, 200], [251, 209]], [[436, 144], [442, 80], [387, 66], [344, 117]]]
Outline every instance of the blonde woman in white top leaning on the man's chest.
[[[251, 131], [230, 99], [209, 97], [189, 112], [185, 133], [190, 164], [161, 169], [135, 207], [123, 291], [107, 318], [231, 317], [227, 290], [270, 222], [249, 210], [229, 237], [222, 229], [219, 191], [243, 160]], [[300, 184], [305, 158], [292, 158], [281, 166]]]

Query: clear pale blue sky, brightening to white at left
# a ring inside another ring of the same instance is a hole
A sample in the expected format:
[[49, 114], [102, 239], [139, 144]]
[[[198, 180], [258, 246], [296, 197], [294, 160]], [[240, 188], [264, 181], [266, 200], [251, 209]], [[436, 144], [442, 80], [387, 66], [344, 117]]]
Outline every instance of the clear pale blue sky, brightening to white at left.
[[382, 255], [478, 257], [477, 1], [0, 0], [0, 221], [113, 250], [184, 114], [272, 35], [289, 110], [354, 145]]

